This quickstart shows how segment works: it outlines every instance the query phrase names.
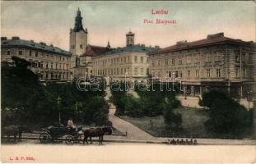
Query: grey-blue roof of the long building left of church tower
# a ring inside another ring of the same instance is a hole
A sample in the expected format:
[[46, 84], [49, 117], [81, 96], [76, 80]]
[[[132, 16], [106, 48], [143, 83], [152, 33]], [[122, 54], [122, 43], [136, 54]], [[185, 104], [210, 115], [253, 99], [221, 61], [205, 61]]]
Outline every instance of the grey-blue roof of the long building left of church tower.
[[34, 41], [23, 40], [23, 39], [5, 39], [1, 41], [1, 47], [25, 47], [43, 50], [47, 52], [58, 53], [63, 56], [71, 56], [71, 52], [67, 52], [61, 48], [54, 46], [48, 46], [46, 43], [35, 43]]

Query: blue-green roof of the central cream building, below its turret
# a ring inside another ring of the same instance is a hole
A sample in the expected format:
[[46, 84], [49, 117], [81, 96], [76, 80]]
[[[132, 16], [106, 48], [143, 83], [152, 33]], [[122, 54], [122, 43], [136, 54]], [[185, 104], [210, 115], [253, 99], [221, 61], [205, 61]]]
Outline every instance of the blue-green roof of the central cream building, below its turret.
[[114, 48], [109, 52], [105, 52], [102, 55], [112, 55], [123, 52], [155, 52], [158, 48], [145, 47], [144, 45], [133, 45], [123, 48]]

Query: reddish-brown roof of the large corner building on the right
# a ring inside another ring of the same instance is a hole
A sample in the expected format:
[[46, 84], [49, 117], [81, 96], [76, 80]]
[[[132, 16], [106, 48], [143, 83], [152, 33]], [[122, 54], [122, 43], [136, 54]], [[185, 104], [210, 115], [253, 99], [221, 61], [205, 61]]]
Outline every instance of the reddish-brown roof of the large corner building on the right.
[[167, 48], [162, 48], [161, 50], [157, 52], [151, 52], [149, 54], [156, 54], [156, 53], [163, 53], [163, 52], [175, 52], [175, 51], [180, 51], [180, 50], [185, 50], [185, 49], [190, 49], [190, 48], [201, 48], [205, 46], [210, 46], [210, 45], [216, 45], [216, 44], [223, 44], [223, 43], [238, 43], [238, 44], [251, 44], [253, 42], [245, 42], [240, 39], [230, 39], [224, 36], [223, 33], [220, 34], [212, 34], [208, 35], [207, 39], [201, 39], [193, 42], [178, 42], [175, 45], [172, 45]]

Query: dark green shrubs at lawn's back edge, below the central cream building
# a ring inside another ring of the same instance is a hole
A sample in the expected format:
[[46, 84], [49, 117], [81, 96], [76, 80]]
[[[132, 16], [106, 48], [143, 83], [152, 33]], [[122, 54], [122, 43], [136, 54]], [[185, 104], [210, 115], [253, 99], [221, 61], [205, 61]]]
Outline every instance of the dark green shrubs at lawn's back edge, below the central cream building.
[[111, 92], [112, 101], [117, 107], [117, 114], [121, 116], [159, 116], [164, 112], [166, 101], [174, 107], [180, 104], [175, 98], [175, 92], [168, 91], [165, 85], [154, 84], [148, 90], [139, 89], [138, 85], [135, 85], [138, 98], [134, 97], [133, 93], [125, 92], [124, 84], [121, 83], [120, 86], [122, 91], [112, 89]]

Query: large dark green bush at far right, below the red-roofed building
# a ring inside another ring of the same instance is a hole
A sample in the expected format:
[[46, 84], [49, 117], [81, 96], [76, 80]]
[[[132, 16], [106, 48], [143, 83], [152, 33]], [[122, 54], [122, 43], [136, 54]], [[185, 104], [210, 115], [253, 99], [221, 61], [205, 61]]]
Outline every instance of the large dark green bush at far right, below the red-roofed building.
[[210, 119], [206, 126], [212, 132], [239, 135], [253, 124], [252, 112], [223, 93], [204, 93], [200, 104], [210, 109]]

